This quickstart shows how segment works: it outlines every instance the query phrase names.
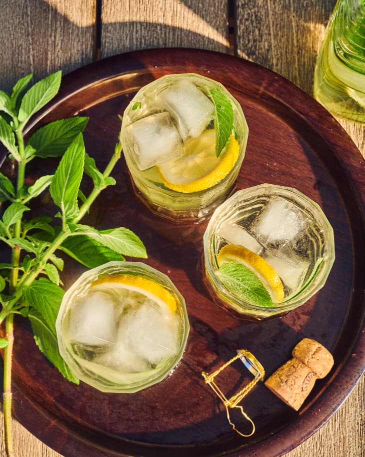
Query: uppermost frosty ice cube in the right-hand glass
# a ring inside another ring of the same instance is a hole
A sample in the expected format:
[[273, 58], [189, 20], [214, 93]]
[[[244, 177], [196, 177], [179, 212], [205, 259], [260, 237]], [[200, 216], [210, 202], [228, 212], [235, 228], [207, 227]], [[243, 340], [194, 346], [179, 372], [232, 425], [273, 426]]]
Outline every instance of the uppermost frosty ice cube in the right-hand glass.
[[293, 203], [273, 197], [264, 206], [250, 227], [250, 231], [264, 245], [277, 247], [294, 240], [307, 218]]

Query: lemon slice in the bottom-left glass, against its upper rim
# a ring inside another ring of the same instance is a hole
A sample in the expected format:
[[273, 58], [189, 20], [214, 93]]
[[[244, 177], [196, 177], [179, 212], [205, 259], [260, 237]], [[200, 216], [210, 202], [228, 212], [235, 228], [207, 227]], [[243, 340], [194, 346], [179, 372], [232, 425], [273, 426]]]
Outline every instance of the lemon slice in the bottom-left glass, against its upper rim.
[[[176, 311], [176, 300], [174, 296], [165, 289], [161, 284], [146, 278], [145, 276], [136, 276], [132, 274], [113, 274], [100, 276], [91, 283], [91, 288], [102, 285], [102, 289], [111, 288], [113, 291], [120, 289], [120, 291], [135, 291], [139, 292], [145, 297], [158, 303], [162, 309], [166, 305], [173, 313]], [[100, 289], [100, 290], [102, 290]]]

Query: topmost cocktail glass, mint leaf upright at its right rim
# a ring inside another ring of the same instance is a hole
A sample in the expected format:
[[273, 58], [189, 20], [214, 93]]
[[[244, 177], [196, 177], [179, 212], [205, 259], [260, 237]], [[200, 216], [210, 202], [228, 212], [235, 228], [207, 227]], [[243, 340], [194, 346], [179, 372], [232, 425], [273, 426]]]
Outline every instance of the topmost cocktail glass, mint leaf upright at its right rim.
[[242, 109], [221, 84], [176, 74], [137, 92], [120, 141], [138, 198], [167, 219], [200, 221], [233, 190], [247, 136]]

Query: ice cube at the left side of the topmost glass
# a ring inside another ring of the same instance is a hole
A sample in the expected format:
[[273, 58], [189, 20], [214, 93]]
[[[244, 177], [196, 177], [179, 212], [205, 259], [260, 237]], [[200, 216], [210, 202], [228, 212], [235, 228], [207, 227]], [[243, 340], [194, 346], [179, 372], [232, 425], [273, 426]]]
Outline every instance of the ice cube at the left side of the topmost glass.
[[183, 146], [176, 126], [167, 112], [152, 114], [125, 127], [134, 159], [140, 170], [182, 155]]

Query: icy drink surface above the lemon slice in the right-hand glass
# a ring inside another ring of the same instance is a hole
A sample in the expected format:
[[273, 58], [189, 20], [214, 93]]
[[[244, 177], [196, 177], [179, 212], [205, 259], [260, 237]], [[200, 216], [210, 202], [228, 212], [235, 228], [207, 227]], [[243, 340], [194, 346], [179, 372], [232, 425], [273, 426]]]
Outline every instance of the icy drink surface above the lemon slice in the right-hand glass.
[[216, 253], [232, 244], [263, 258], [281, 279], [283, 301], [310, 280], [325, 249], [316, 221], [278, 195], [242, 206], [217, 228], [214, 243]]

